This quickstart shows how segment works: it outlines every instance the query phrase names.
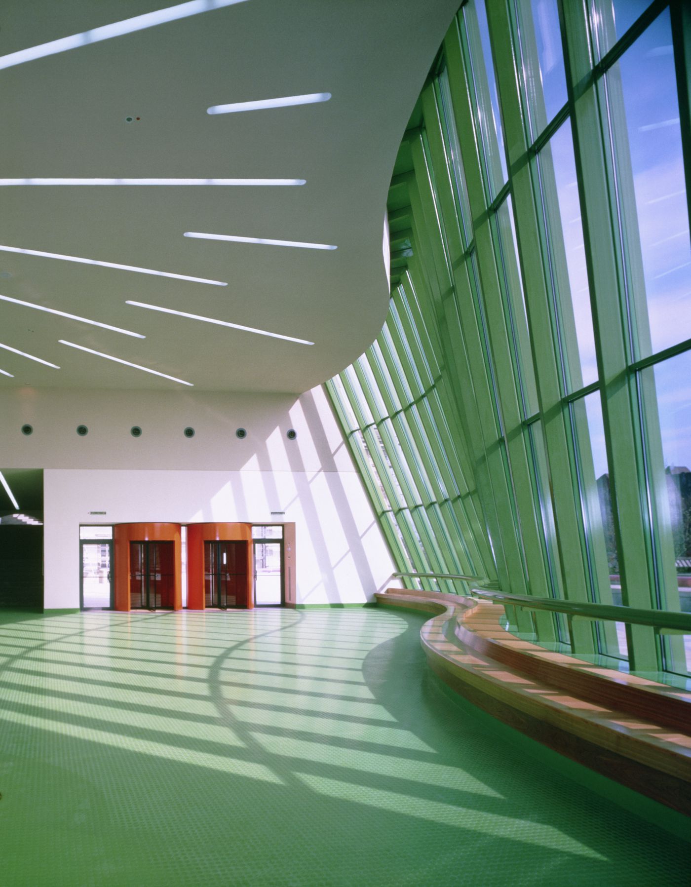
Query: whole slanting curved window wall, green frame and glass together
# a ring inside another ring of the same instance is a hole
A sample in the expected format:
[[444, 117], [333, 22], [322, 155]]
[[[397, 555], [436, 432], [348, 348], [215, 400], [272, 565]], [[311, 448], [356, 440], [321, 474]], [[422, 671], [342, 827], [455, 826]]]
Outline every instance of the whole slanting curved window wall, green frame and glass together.
[[[326, 383], [401, 572], [691, 609], [691, 7], [635, 5], [469, 0], [422, 90], [389, 316]], [[691, 673], [688, 637], [512, 623]]]

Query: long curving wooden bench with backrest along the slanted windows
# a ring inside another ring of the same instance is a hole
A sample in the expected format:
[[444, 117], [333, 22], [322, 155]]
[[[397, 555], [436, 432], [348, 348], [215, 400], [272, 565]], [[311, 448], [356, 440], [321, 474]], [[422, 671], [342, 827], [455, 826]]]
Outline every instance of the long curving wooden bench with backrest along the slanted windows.
[[400, 588], [376, 600], [435, 614], [420, 629], [428, 663], [469, 702], [691, 815], [691, 694], [520, 640], [490, 602]]

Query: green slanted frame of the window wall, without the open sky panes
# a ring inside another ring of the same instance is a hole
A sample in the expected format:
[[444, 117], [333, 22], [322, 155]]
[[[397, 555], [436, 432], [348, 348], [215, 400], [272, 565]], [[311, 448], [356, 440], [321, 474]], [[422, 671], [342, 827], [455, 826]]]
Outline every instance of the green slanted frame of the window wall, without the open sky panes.
[[[548, 120], [530, 0], [486, 3], [492, 59], [479, 2], [453, 20], [398, 155], [389, 317], [326, 390], [397, 569], [415, 587], [467, 593], [460, 577], [482, 574], [518, 597], [609, 608], [614, 557], [624, 607], [678, 610], [651, 367], [691, 339], [651, 354], [617, 61], [670, 10], [691, 207], [691, 11], [655, 0], [616, 41], [611, 4], [557, 0], [567, 101]], [[488, 65], [503, 144], [489, 122]], [[567, 121], [597, 357], [598, 380], [587, 384], [550, 146]], [[605, 432], [609, 545], [588, 396]], [[631, 669], [686, 674], [683, 639], [661, 638], [656, 618], [626, 625]], [[516, 620], [519, 632], [567, 641], [575, 654], [626, 657], [607, 620], [567, 624], [559, 606], [518, 608]]]

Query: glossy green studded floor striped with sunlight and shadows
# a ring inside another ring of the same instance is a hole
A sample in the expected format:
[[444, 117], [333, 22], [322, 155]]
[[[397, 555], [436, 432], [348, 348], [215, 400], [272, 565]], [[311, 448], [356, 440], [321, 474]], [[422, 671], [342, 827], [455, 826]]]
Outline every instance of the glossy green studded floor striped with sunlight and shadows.
[[439, 690], [423, 616], [0, 616], [0, 883], [689, 883]]

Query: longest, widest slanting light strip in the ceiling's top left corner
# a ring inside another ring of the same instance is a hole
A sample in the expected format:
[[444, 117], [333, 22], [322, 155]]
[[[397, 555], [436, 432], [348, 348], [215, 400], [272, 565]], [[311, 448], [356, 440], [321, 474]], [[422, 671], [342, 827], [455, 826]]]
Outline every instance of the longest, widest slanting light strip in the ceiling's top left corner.
[[90, 31], [82, 31], [81, 34], [61, 37], [59, 40], [51, 40], [50, 43], [39, 43], [26, 50], [10, 52], [8, 55], [0, 56], [0, 68], [22, 65], [27, 61], [44, 59], [46, 56], [56, 55], [59, 52], [75, 50], [77, 47], [87, 46], [89, 43], [100, 43], [102, 40], [110, 40], [123, 34], [133, 34], [135, 31], [144, 31], [148, 27], [164, 25], [169, 21], [187, 19], [191, 15], [199, 15], [200, 12], [209, 12], [244, 2], [245, 0], [191, 0], [189, 3], [169, 6], [167, 9], [145, 12], [144, 15], [136, 15], [131, 19], [115, 21], [112, 25], [93, 27]]

